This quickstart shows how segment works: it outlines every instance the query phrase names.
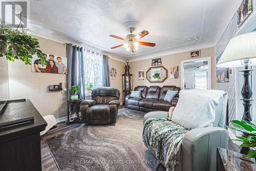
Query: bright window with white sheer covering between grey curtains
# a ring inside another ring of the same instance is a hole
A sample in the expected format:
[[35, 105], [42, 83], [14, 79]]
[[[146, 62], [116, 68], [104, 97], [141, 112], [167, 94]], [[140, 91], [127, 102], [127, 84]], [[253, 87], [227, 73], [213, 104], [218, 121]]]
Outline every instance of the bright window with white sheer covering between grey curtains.
[[86, 51], [86, 65], [84, 65], [84, 75], [86, 84], [91, 82], [94, 88], [102, 86], [102, 54]]

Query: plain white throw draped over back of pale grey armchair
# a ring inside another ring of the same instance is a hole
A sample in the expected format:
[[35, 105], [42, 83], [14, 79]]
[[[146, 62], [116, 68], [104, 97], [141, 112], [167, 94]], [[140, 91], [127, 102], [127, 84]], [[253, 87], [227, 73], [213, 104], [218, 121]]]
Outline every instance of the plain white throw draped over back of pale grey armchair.
[[219, 99], [225, 94], [220, 90], [181, 90], [172, 121], [186, 129], [212, 126]]

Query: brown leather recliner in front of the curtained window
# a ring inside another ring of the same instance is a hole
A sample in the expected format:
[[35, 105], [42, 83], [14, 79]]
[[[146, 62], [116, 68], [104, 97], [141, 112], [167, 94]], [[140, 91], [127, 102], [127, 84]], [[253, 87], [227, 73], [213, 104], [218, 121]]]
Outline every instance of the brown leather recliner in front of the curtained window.
[[113, 124], [117, 120], [120, 91], [111, 87], [100, 87], [92, 91], [92, 100], [81, 102], [82, 123]]

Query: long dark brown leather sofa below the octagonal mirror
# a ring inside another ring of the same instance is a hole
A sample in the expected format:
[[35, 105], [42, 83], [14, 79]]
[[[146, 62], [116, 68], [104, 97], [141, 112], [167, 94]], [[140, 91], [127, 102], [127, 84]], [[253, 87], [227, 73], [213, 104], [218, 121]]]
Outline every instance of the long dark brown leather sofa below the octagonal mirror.
[[[141, 91], [141, 97], [130, 97], [130, 94], [125, 97], [125, 107], [137, 111], [152, 112], [152, 111], [169, 111], [171, 106], [176, 106], [179, 100], [180, 88], [176, 86], [138, 86], [135, 91]], [[175, 98], [170, 102], [165, 101], [164, 96], [168, 90], [177, 90]]]

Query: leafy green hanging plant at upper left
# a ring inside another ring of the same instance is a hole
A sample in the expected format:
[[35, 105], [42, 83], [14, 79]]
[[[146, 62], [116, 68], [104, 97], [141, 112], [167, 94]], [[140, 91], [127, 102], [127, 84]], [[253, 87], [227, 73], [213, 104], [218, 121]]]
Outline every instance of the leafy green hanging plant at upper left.
[[31, 65], [32, 55], [36, 54], [41, 59], [41, 64], [46, 65], [46, 58], [39, 48], [39, 42], [30, 35], [0, 27], [0, 57], [4, 55], [10, 61], [20, 59], [26, 65]]

